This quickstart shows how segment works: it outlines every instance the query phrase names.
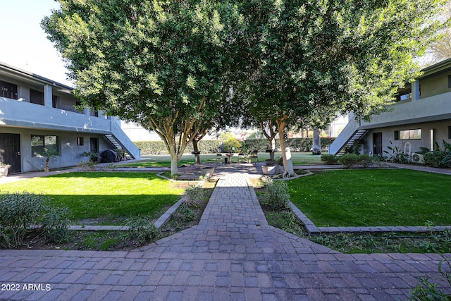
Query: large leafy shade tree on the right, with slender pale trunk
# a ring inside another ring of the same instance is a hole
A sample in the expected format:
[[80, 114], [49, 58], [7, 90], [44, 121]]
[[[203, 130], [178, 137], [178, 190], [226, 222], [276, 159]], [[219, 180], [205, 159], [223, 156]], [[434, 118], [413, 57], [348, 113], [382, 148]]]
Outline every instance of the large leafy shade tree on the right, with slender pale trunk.
[[276, 121], [286, 173], [293, 173], [288, 125], [338, 112], [369, 118], [419, 75], [414, 58], [435, 39], [443, 2], [242, 2], [247, 29], [235, 89]]

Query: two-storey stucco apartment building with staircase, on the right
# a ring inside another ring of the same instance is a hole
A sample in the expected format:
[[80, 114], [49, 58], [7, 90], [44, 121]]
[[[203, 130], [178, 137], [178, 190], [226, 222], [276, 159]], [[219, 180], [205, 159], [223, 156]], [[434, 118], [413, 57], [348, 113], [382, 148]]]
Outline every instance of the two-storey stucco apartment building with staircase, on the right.
[[421, 156], [414, 156], [420, 147], [433, 149], [434, 142], [451, 142], [451, 59], [422, 71], [420, 78], [399, 91], [397, 102], [388, 107], [389, 111], [373, 116], [370, 122], [350, 116], [329, 153], [337, 154], [358, 140], [360, 152], [384, 154], [391, 142], [421, 163]]

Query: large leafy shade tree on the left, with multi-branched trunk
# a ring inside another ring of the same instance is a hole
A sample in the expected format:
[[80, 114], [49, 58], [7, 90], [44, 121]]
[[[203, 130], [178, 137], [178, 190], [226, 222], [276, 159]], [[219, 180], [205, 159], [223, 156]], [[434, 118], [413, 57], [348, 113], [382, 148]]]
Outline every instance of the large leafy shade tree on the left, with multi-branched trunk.
[[233, 66], [228, 1], [60, 0], [42, 27], [66, 59], [86, 106], [154, 130], [171, 173], [188, 142], [221, 113]]

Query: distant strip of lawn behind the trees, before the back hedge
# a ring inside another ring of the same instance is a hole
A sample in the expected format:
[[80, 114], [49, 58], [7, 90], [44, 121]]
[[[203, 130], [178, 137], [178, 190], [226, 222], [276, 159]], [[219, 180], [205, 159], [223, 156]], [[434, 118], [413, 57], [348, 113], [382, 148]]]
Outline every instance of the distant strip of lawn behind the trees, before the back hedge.
[[[282, 156], [282, 153], [276, 152], [274, 158], [278, 159], [278, 157]], [[156, 154], [156, 155], [145, 155], [142, 158], [147, 158], [139, 162], [130, 163], [130, 164], [121, 164], [121, 166], [145, 166], [145, 167], [154, 167], [154, 166], [171, 166], [171, 156], [166, 154]], [[200, 160], [202, 163], [215, 163], [216, 162], [216, 154], [201, 154]], [[224, 160], [223, 156], [223, 160]], [[259, 161], [264, 161], [265, 159], [269, 159], [269, 154], [261, 152], [259, 153]], [[311, 153], [307, 152], [293, 152], [292, 153], [293, 164], [321, 164], [321, 156], [314, 156]], [[178, 165], [183, 164], [194, 164], [194, 155], [192, 154], [184, 154], [182, 159], [178, 161]]]

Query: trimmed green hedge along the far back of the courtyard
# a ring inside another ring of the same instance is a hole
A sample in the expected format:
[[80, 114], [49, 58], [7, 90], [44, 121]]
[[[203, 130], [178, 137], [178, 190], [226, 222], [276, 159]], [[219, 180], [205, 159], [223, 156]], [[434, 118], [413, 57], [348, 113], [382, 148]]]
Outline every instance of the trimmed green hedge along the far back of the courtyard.
[[[326, 150], [328, 145], [332, 144], [335, 138], [321, 138], [321, 148]], [[139, 141], [134, 142], [141, 149], [141, 154], [168, 154], [163, 141]], [[313, 144], [312, 138], [290, 138], [288, 145], [292, 152], [310, 152]], [[248, 151], [257, 149], [259, 152], [265, 152], [269, 148], [267, 139], [249, 139], [245, 140]], [[221, 140], [200, 140], [199, 151], [202, 154], [214, 154], [221, 149]], [[185, 154], [191, 154], [192, 144], [187, 145]], [[276, 139], [276, 150], [280, 150], [280, 141]]]

